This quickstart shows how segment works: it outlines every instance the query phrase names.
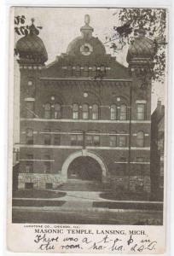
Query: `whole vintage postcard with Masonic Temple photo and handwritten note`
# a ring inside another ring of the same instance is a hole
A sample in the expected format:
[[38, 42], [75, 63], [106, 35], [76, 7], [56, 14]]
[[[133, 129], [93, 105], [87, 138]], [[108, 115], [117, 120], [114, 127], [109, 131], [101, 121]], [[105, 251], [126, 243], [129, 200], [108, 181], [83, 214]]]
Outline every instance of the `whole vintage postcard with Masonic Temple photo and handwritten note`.
[[167, 16], [10, 9], [9, 250], [165, 253]]

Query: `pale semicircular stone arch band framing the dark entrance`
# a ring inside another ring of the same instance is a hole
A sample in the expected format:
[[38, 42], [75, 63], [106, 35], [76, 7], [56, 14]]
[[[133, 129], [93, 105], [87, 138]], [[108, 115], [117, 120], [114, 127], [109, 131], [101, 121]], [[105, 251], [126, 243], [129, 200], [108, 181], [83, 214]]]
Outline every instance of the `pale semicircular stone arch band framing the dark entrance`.
[[64, 161], [62, 168], [61, 168], [61, 176], [64, 180], [67, 180], [67, 170], [69, 165], [78, 158], [79, 156], [89, 156], [97, 161], [97, 163], [101, 166], [102, 169], [102, 180], [104, 180], [107, 176], [107, 166], [105, 166], [103, 160], [96, 155], [95, 153], [92, 153], [90, 151], [87, 151], [86, 149], [74, 152], [73, 154], [70, 154], [67, 159]]

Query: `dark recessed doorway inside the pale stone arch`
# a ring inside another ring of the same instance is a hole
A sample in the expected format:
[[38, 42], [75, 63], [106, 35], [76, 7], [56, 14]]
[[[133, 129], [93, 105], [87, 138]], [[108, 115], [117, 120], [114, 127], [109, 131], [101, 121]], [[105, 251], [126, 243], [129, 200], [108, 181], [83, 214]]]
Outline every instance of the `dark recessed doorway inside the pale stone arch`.
[[102, 182], [102, 168], [90, 156], [79, 156], [68, 166], [67, 178]]

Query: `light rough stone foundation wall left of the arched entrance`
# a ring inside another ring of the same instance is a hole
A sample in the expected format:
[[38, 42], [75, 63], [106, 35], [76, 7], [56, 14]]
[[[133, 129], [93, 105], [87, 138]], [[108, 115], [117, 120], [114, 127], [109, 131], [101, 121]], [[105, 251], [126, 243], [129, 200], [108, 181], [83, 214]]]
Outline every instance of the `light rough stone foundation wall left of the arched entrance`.
[[18, 189], [56, 189], [63, 183], [60, 174], [20, 173]]

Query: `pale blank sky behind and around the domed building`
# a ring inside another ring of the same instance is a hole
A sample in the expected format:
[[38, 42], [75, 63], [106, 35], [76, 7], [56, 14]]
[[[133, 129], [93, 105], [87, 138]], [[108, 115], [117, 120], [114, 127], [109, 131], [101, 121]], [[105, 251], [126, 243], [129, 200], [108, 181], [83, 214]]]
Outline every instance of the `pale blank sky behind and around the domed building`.
[[[114, 15], [113, 15], [114, 14]], [[14, 15], [25, 15], [26, 25], [31, 24], [35, 19], [35, 26], [43, 26], [39, 33], [49, 60], [46, 64], [55, 60], [56, 55], [66, 53], [68, 44], [80, 35], [80, 27], [84, 26], [84, 15], [90, 15], [90, 26], [94, 28], [93, 36], [98, 37], [103, 44], [106, 43], [106, 36], [113, 33], [113, 26], [120, 26], [119, 9], [95, 9], [95, 8], [31, 8], [15, 7]], [[14, 44], [20, 38], [14, 34]], [[117, 61], [128, 66], [126, 55], [128, 46], [118, 53], [105, 44], [108, 54], [116, 57]], [[20, 114], [20, 72], [16, 60], [14, 60], [14, 143], [19, 143], [19, 114]], [[157, 101], [164, 103], [165, 84], [154, 83], [152, 93], [152, 112], [156, 108]]]

